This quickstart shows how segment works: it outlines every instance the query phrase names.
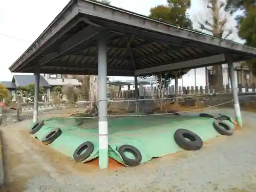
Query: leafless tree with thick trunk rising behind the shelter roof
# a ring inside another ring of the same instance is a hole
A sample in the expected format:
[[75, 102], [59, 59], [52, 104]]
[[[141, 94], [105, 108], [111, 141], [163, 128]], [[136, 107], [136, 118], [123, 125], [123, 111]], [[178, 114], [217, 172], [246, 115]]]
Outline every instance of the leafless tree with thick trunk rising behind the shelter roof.
[[[224, 9], [225, 3], [222, 0], [201, 0], [204, 10], [199, 8], [196, 13], [191, 15], [194, 29], [218, 38], [233, 40], [233, 34], [236, 34], [236, 25], [233, 23], [234, 18]], [[223, 89], [222, 65], [212, 66], [210, 73], [214, 89], [221, 91]]]

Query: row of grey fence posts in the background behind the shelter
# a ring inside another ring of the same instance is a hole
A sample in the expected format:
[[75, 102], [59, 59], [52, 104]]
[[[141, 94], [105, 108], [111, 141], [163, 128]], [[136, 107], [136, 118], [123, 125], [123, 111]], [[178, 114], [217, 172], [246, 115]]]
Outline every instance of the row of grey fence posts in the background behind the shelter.
[[[229, 84], [226, 84], [223, 86], [224, 93], [231, 93], [231, 88]], [[238, 92], [239, 93], [255, 93], [256, 92], [256, 86], [255, 83], [252, 83], [250, 86], [246, 84], [246, 86], [242, 86], [242, 84], [238, 84]], [[215, 93], [215, 90], [213, 86], [210, 86], [209, 88], [207, 86], [191, 86], [191, 87], [181, 87], [179, 86], [179, 95], [198, 95], [198, 94], [210, 94]], [[156, 87], [144, 87], [144, 96], [145, 98], [149, 98], [152, 96], [158, 96], [157, 88]], [[175, 86], [169, 86], [164, 91], [165, 97], [172, 97], [175, 95]], [[116, 98], [124, 98], [124, 99], [134, 99], [136, 98], [135, 90], [127, 90], [127, 91], [111, 91], [110, 92], [110, 99], [116, 99]]]

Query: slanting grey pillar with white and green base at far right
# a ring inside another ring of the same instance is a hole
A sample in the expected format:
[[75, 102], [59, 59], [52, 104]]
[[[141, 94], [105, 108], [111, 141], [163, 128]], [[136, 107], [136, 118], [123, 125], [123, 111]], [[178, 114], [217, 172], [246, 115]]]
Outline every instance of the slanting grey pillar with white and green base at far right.
[[241, 111], [240, 111], [240, 105], [239, 105], [238, 89], [236, 87], [236, 79], [234, 77], [234, 66], [233, 66], [232, 57], [228, 56], [227, 61], [228, 61], [228, 72], [229, 72], [231, 90], [233, 95], [234, 114], [236, 116], [236, 120], [239, 126], [242, 127], [243, 123], [242, 123], [242, 117], [241, 117]]

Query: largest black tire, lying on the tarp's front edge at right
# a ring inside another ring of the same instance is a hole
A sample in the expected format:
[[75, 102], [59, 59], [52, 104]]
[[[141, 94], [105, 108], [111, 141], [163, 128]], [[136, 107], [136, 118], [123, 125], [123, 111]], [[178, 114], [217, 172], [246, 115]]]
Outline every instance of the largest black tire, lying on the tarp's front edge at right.
[[203, 146], [203, 140], [197, 134], [185, 129], [178, 129], [174, 140], [184, 150], [196, 151]]

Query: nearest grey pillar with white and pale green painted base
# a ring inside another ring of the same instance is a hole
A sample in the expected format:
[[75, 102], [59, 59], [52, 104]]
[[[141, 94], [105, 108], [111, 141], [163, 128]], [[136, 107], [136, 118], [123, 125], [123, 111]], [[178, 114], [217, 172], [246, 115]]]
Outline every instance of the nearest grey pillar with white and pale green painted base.
[[99, 37], [98, 51], [98, 110], [99, 110], [99, 167], [109, 165], [108, 143], [108, 103], [107, 103], [107, 63], [106, 63], [106, 36], [103, 32]]

